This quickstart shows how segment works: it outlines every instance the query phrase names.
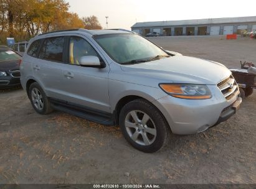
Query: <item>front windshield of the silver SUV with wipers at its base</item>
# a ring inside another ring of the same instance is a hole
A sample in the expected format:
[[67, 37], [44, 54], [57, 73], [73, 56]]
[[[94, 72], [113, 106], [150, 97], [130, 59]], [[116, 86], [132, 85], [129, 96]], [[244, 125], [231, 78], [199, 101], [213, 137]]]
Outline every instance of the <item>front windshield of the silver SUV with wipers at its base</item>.
[[115, 62], [147, 62], [169, 57], [161, 48], [135, 34], [107, 34], [93, 37]]

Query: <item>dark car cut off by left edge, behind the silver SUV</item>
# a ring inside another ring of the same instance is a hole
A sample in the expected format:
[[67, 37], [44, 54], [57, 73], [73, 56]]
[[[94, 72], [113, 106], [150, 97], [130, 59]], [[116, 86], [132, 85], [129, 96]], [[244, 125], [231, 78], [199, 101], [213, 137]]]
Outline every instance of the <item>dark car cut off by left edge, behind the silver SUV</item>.
[[0, 46], [0, 89], [21, 85], [19, 63], [21, 55], [6, 46]]

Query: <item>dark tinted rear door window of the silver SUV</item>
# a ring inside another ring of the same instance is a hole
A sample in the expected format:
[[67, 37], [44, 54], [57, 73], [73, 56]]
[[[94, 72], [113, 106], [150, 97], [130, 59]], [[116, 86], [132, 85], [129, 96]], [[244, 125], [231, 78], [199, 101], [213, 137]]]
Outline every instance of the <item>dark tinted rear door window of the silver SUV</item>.
[[63, 47], [64, 37], [52, 37], [45, 39], [39, 52], [39, 58], [63, 62]]

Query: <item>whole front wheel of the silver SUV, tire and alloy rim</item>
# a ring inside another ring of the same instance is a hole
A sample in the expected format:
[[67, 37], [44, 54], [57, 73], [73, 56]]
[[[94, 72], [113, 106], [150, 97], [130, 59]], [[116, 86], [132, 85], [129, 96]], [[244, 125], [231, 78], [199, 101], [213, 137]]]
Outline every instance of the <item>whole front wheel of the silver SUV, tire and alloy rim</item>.
[[119, 123], [126, 141], [147, 153], [160, 150], [168, 142], [171, 133], [163, 115], [144, 99], [125, 104], [120, 111]]

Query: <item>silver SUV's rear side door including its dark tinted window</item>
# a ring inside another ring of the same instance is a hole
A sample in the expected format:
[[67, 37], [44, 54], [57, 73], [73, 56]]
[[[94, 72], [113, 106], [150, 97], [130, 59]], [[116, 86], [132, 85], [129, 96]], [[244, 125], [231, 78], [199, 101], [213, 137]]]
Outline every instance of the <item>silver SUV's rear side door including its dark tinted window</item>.
[[63, 98], [64, 44], [64, 36], [45, 39], [37, 60], [32, 63], [34, 77], [37, 78], [47, 96], [58, 99]]

